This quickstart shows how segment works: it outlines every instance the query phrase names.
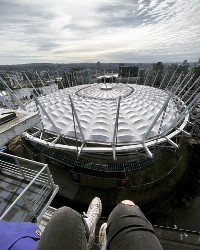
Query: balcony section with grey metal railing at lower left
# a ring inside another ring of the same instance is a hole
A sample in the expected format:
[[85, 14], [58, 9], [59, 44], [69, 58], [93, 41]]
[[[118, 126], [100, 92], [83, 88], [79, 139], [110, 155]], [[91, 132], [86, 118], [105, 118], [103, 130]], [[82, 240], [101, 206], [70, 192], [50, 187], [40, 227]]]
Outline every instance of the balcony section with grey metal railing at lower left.
[[47, 164], [2, 152], [0, 176], [0, 194], [12, 197], [2, 200], [0, 196], [6, 204], [3, 211], [0, 210], [0, 220], [32, 221], [46, 211], [58, 192]]

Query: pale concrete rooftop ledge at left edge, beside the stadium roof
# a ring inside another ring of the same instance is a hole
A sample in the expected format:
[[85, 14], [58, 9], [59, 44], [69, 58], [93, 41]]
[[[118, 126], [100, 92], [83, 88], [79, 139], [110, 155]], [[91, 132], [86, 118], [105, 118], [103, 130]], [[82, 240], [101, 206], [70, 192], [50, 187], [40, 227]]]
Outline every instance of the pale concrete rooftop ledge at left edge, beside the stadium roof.
[[0, 108], [0, 114], [7, 112], [15, 112], [16, 118], [0, 125], [0, 146], [5, 145], [17, 135], [22, 134], [40, 122], [40, 118], [36, 112]]

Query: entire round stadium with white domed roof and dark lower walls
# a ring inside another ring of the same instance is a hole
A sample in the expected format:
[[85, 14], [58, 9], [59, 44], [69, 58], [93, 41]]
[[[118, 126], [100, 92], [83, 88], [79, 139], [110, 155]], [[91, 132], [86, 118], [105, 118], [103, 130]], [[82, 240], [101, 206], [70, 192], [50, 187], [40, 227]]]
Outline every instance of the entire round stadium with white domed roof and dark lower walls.
[[110, 206], [122, 197], [145, 204], [173, 190], [185, 173], [183, 138], [198, 82], [189, 74], [156, 87], [104, 79], [33, 93], [25, 109], [41, 122], [24, 137], [70, 174], [79, 189], [73, 199], [95, 194]]

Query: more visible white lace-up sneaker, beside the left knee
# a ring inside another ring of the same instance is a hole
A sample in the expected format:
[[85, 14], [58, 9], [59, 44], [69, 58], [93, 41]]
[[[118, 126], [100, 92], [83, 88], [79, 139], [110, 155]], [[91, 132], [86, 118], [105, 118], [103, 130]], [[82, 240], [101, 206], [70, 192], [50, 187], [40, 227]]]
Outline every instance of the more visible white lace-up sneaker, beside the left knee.
[[87, 213], [84, 213], [85, 221], [89, 228], [89, 240], [88, 240], [88, 248], [91, 249], [95, 240], [95, 228], [96, 224], [101, 216], [102, 204], [101, 200], [98, 197], [95, 197], [89, 207]]

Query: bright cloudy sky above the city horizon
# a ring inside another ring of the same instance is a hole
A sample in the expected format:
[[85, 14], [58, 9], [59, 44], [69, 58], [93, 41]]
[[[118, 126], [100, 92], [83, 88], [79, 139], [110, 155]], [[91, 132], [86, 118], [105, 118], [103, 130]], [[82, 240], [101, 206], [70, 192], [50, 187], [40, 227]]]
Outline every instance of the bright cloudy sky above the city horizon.
[[200, 0], [0, 0], [0, 10], [0, 64], [200, 57]]

